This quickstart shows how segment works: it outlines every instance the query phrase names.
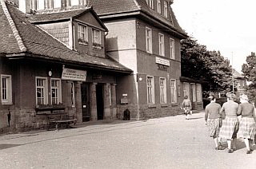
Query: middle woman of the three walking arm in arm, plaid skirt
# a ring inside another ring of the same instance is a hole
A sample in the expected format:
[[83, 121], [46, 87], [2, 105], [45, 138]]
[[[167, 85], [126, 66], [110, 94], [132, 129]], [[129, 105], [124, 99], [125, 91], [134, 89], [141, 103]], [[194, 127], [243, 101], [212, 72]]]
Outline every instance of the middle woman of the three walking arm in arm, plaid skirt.
[[222, 120], [222, 128], [219, 137], [226, 139], [228, 152], [232, 153], [236, 150], [237, 135], [239, 129], [239, 120], [237, 116], [238, 103], [234, 102], [236, 98], [234, 93], [226, 93], [227, 101], [222, 105], [221, 114], [225, 116]]

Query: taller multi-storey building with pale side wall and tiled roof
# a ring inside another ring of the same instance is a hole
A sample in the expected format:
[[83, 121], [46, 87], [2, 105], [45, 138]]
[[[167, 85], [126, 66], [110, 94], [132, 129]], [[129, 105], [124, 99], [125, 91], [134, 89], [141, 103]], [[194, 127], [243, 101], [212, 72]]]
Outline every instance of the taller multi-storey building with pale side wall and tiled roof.
[[135, 120], [181, 112], [180, 40], [187, 35], [178, 25], [172, 3], [89, 1], [109, 29], [107, 55], [134, 72], [118, 78], [117, 103], [119, 113], [128, 108]]

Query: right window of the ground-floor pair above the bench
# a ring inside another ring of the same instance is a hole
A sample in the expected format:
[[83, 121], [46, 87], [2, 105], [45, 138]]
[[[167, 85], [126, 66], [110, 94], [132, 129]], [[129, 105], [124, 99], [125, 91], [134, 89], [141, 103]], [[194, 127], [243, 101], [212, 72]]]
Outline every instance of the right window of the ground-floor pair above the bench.
[[50, 90], [51, 90], [51, 104], [62, 103], [61, 81], [59, 79], [50, 80]]

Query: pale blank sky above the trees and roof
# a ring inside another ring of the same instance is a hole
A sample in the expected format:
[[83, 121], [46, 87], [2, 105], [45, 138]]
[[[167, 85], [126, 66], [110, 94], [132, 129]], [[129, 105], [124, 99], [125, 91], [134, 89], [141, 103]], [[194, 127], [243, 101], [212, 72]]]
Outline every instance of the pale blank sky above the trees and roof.
[[172, 9], [190, 37], [219, 50], [238, 72], [256, 52], [256, 0], [174, 0]]

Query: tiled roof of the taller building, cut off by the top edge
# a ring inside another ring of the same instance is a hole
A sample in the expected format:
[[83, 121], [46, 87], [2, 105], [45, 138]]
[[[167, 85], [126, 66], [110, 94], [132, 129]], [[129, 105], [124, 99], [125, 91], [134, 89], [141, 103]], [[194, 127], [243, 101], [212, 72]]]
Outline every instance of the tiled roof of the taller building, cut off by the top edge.
[[132, 12], [142, 12], [150, 16], [151, 18], [157, 19], [166, 26], [177, 30], [182, 36], [187, 37], [186, 32], [179, 26], [178, 21], [174, 15], [174, 11], [170, 7], [171, 20], [168, 20], [157, 11], [150, 9], [146, 4], [146, 0], [89, 0], [89, 4], [93, 6], [95, 12], [100, 18], [111, 18], [114, 14], [130, 14]]

